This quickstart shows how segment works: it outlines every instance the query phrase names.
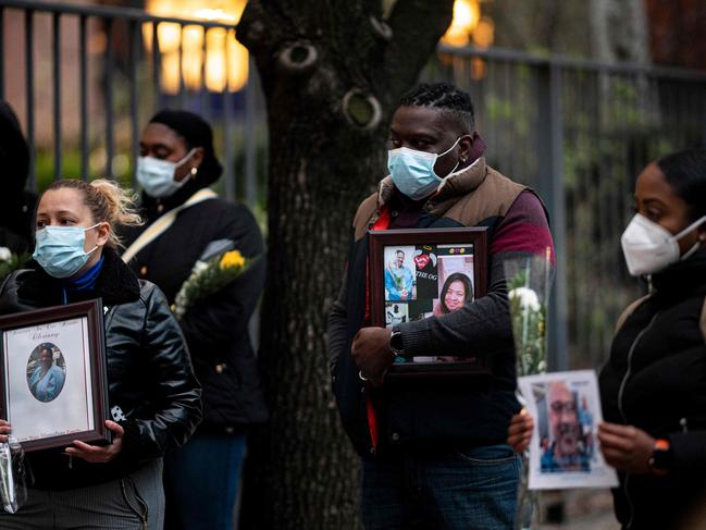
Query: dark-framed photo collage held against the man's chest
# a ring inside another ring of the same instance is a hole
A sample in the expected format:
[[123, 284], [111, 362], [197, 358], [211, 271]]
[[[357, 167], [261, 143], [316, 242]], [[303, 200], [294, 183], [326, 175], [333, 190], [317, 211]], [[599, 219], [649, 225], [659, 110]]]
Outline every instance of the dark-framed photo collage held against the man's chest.
[[[370, 234], [373, 325], [392, 328], [458, 311], [486, 294], [485, 227], [386, 230]], [[479, 355], [397, 359], [387, 378], [478, 374], [490, 371]]]

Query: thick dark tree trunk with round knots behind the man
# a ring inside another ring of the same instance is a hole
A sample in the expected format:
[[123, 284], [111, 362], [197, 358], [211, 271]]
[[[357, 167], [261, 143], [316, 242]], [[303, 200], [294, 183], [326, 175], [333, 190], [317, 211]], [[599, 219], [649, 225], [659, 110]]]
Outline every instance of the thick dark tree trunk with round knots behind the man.
[[451, 7], [398, 0], [383, 19], [381, 0], [250, 0], [238, 25], [270, 132], [260, 367], [271, 419], [249, 447], [245, 528], [359, 525], [358, 459], [331, 393], [327, 315], [355, 208], [385, 171], [395, 102]]

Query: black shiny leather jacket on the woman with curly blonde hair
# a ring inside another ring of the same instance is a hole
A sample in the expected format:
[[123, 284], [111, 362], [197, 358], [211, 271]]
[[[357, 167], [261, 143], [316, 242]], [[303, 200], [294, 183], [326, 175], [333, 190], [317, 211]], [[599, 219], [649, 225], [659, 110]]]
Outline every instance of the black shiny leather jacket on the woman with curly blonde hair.
[[[110, 464], [70, 463], [60, 451], [32, 453], [39, 489], [73, 489], [109, 481], [186, 443], [201, 419], [201, 389], [188, 349], [166, 300], [156, 285], [138, 281], [117, 255], [106, 261], [91, 293], [69, 293], [69, 301], [101, 297], [106, 322], [109, 406], [126, 417], [123, 448]], [[12, 274], [0, 293], [0, 313], [62, 304], [62, 284], [40, 268]]]

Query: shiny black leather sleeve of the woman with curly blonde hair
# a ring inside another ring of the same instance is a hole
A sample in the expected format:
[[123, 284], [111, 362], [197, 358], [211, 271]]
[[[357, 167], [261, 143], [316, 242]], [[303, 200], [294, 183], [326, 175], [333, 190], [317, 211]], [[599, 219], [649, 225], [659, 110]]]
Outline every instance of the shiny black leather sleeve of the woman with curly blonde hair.
[[148, 459], [182, 446], [201, 420], [201, 387], [194, 375], [188, 348], [164, 295], [154, 285], [144, 289], [146, 306], [143, 348], [157, 379], [157, 411], [121, 422], [125, 429], [123, 458]]

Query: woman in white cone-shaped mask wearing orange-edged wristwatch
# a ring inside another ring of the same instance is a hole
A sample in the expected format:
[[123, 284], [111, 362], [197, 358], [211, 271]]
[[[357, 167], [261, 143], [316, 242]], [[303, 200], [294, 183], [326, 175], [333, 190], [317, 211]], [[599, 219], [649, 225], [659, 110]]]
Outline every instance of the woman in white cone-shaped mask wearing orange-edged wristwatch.
[[[622, 528], [697, 528], [681, 525], [706, 498], [706, 149], [652, 162], [634, 197], [622, 249], [652, 289], [618, 321], [598, 442], [618, 470]], [[532, 427], [516, 416], [508, 443], [524, 451]]]

